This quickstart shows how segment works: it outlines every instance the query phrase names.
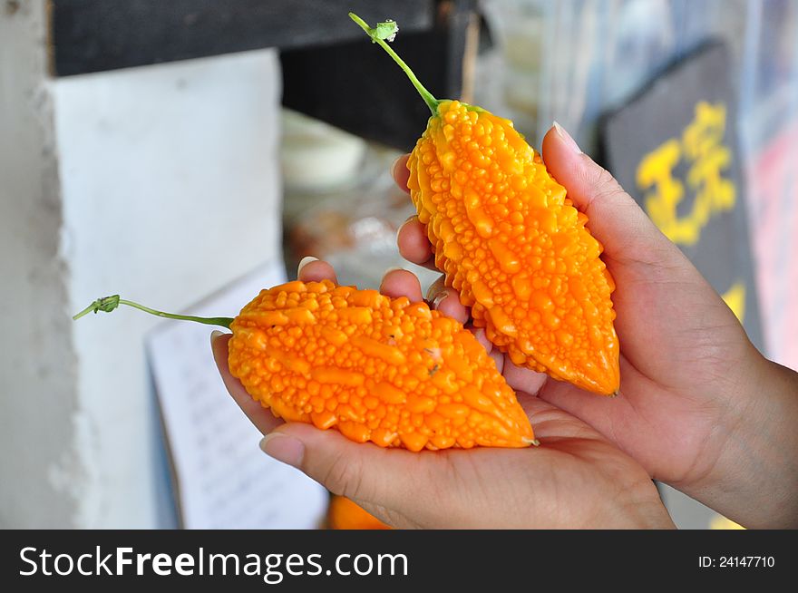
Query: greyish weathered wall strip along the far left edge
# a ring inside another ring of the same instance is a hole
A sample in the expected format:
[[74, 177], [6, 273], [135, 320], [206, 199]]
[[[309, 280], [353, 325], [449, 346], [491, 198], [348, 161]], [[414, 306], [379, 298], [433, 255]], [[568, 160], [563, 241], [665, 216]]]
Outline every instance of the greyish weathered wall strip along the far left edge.
[[69, 278], [44, 73], [44, 3], [0, 7], [0, 527], [67, 527], [76, 441]]

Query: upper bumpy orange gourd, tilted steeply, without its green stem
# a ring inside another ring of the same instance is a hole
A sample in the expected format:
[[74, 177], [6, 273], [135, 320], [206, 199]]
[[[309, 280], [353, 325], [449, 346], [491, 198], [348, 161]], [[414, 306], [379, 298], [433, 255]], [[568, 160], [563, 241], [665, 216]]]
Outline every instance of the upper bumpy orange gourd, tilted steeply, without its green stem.
[[408, 160], [419, 220], [446, 284], [513, 363], [618, 391], [618, 337], [587, 217], [512, 122], [442, 101]]

